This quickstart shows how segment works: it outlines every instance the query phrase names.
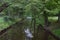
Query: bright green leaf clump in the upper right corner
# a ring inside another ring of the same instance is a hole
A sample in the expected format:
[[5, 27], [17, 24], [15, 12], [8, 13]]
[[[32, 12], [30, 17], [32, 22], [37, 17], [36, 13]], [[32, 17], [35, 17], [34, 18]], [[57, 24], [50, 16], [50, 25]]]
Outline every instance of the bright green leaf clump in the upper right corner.
[[[51, 3], [52, 2], [52, 3]], [[46, 11], [49, 12], [51, 15], [56, 15], [60, 11], [60, 4], [59, 0], [49, 0], [46, 2]]]

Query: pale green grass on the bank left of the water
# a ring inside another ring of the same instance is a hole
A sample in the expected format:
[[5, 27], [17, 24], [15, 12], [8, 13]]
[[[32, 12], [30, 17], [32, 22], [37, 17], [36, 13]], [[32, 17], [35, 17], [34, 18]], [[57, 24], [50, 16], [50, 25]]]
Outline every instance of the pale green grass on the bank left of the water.
[[[20, 19], [17, 19], [15, 22], [19, 21]], [[0, 17], [0, 30], [3, 30], [7, 27], [9, 27], [10, 25], [14, 24], [15, 22], [5, 22], [4, 21], [4, 17]]]

